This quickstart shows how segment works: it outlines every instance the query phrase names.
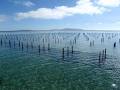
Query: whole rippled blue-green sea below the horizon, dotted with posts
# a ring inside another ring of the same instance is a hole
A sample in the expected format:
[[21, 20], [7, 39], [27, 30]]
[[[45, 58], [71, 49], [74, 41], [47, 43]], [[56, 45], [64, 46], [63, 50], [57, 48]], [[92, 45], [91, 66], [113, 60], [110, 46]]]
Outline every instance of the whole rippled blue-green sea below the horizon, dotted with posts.
[[1, 32], [0, 40], [1, 90], [120, 89], [119, 32]]

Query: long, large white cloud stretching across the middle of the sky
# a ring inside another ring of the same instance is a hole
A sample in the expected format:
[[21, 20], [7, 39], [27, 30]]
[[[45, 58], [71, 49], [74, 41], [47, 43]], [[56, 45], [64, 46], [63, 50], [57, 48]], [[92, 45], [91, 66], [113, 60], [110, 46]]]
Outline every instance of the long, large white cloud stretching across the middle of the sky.
[[94, 5], [91, 0], [78, 0], [73, 7], [58, 6], [55, 8], [39, 8], [29, 12], [19, 12], [17, 19], [35, 18], [35, 19], [62, 19], [74, 14], [102, 14], [108, 11], [106, 8]]

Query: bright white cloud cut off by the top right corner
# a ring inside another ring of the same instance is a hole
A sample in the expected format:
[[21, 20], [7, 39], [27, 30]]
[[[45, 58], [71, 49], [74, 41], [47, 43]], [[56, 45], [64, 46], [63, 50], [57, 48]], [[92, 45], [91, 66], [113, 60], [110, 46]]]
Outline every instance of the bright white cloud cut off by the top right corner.
[[97, 0], [99, 5], [107, 7], [118, 7], [120, 5], [120, 0]]

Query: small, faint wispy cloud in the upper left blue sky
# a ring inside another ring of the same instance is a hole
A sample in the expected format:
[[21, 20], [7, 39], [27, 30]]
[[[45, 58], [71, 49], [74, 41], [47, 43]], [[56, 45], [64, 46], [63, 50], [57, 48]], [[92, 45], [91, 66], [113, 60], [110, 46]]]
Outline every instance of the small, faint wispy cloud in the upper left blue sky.
[[17, 5], [22, 5], [26, 7], [32, 7], [35, 6], [35, 4], [31, 1], [23, 1], [23, 0], [11, 0], [12, 3], [17, 4]]

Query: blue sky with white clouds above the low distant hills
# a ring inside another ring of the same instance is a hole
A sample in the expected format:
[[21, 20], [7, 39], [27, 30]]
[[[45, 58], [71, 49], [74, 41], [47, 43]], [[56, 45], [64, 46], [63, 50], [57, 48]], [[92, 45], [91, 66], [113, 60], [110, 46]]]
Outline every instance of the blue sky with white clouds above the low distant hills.
[[120, 30], [120, 0], [0, 0], [0, 31]]

